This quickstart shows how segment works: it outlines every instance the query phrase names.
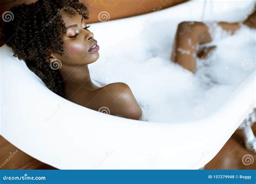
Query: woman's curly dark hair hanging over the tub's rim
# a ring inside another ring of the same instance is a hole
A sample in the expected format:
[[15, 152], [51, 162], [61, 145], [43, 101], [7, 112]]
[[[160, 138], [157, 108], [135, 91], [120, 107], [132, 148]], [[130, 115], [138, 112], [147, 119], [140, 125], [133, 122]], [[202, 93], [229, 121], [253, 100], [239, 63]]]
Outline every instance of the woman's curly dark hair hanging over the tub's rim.
[[65, 97], [62, 77], [52, 69], [51, 53], [64, 54], [62, 36], [66, 32], [61, 12], [88, 19], [87, 7], [78, 0], [38, 0], [32, 4], [19, 4], [10, 10], [14, 20], [6, 22], [3, 37], [12, 47], [14, 56], [24, 60], [54, 93]]

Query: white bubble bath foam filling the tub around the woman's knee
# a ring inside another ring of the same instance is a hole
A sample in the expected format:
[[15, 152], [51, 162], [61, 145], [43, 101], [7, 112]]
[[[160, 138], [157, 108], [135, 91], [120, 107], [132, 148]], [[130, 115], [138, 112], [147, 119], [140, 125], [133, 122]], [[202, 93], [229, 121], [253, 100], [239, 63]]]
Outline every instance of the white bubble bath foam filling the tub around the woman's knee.
[[255, 30], [242, 26], [230, 36], [217, 26], [211, 32], [217, 48], [205, 60], [197, 59], [198, 69], [192, 74], [170, 61], [173, 25], [153, 24], [147, 25], [138, 38], [101, 50], [100, 59], [89, 65], [93, 79], [127, 83], [147, 121], [206, 117], [255, 71]]

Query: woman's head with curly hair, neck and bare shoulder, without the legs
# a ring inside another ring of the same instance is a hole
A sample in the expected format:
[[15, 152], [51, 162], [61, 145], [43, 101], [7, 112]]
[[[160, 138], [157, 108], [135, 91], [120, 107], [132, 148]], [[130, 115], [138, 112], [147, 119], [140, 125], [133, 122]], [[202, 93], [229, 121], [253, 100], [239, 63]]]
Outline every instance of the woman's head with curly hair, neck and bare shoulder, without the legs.
[[[86, 25], [88, 12], [78, 0], [39, 0], [11, 9], [4, 25], [6, 45], [56, 94], [111, 115], [139, 119], [142, 109], [127, 84], [96, 86], [87, 65], [99, 58], [99, 46]], [[57, 66], [57, 68], [56, 68]]]

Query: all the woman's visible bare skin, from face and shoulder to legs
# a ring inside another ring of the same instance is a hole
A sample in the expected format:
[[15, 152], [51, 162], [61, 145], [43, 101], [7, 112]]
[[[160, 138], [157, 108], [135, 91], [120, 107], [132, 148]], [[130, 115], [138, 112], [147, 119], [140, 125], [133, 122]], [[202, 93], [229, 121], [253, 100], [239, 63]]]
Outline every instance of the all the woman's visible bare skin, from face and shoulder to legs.
[[[99, 52], [89, 51], [96, 40], [93, 33], [87, 29], [82, 16], [73, 17], [63, 12], [62, 18], [67, 27], [67, 32], [63, 36], [64, 55], [52, 54], [52, 56], [53, 59], [62, 62], [59, 72], [64, 81], [66, 98], [93, 110], [107, 107], [111, 115], [139, 119], [142, 109], [127, 84], [117, 82], [99, 88], [91, 81], [87, 65], [99, 58]], [[253, 13], [243, 24], [255, 29], [255, 22], [255, 13]], [[238, 23], [219, 22], [218, 25], [232, 34], [240, 28]], [[190, 39], [189, 42], [188, 39]], [[206, 56], [214, 49], [214, 47], [210, 47], [202, 52], [197, 49], [197, 45], [210, 41], [212, 38], [204, 23], [180, 23], [173, 45], [172, 61], [195, 72], [196, 56]], [[178, 48], [190, 52], [182, 53]]]

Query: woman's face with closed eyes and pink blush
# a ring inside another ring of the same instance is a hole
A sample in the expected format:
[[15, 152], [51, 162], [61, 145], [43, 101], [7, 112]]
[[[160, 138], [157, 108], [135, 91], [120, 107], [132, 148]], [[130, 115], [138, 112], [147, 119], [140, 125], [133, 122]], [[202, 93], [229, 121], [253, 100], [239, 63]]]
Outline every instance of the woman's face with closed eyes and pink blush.
[[66, 26], [63, 35], [64, 54], [52, 54], [63, 65], [78, 66], [95, 62], [99, 58], [99, 46], [93, 38], [93, 33], [87, 29], [85, 19], [78, 13], [74, 17], [62, 12], [62, 19]]

